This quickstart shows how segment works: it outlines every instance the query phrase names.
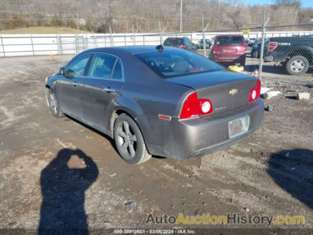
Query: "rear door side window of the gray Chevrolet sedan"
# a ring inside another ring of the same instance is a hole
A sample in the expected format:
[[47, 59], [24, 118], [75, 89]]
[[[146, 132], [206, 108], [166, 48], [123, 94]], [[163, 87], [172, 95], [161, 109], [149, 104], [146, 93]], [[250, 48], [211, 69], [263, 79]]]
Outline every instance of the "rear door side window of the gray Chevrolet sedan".
[[89, 67], [88, 76], [98, 78], [111, 78], [116, 58], [111, 55], [94, 55]]

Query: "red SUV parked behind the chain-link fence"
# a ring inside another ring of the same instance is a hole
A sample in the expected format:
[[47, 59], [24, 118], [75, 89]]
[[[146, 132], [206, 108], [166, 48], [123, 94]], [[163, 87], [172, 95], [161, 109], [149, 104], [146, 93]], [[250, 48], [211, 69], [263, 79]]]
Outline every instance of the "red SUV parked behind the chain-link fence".
[[218, 63], [246, 65], [246, 41], [243, 35], [218, 35], [213, 39], [210, 59]]

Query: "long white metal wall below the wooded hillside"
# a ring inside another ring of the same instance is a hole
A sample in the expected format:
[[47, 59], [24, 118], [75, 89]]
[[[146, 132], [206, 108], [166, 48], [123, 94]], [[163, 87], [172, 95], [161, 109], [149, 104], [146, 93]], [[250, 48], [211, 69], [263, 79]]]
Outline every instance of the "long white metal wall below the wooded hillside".
[[[238, 32], [207, 32], [206, 39], [217, 34], [238, 34]], [[267, 31], [266, 37], [283, 37], [313, 34], [313, 31]], [[246, 38], [260, 38], [262, 32], [250, 32]], [[133, 45], [159, 45], [167, 37], [189, 37], [193, 43], [202, 39], [201, 32], [160, 34], [0, 34], [0, 57], [75, 54], [94, 47], [117, 47]]]

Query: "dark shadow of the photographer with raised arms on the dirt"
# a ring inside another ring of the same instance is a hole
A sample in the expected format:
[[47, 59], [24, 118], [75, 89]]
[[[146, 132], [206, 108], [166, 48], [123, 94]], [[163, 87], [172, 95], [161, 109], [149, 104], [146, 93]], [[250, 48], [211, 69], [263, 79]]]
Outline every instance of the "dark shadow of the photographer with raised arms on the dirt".
[[[69, 168], [68, 161], [74, 155], [86, 167]], [[97, 165], [83, 151], [60, 150], [41, 172], [43, 203], [38, 234], [88, 234], [85, 191], [98, 174]]]

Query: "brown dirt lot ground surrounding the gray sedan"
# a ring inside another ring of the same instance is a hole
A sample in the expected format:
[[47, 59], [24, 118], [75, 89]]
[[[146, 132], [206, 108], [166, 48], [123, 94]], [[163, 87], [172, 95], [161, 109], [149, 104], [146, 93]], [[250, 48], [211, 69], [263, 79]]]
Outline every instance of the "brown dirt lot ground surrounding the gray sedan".
[[[60, 216], [68, 224], [88, 226], [89, 232], [267, 228], [261, 224], [145, 223], [149, 213], [177, 216], [180, 212], [304, 215], [305, 225], [300, 227], [313, 229], [313, 89], [267, 80], [264, 85], [284, 94], [266, 101], [274, 111], [265, 112], [263, 127], [254, 136], [195, 160], [154, 157], [129, 165], [109, 137], [73, 119], [50, 114], [45, 77], [70, 58], [56, 56], [54, 62], [48, 56], [0, 59], [1, 229], [35, 233], [43, 225], [61, 228], [66, 225], [60, 223]], [[307, 77], [312, 79], [312, 74]], [[310, 100], [294, 99], [297, 90], [310, 92]], [[259, 233], [297, 227], [270, 225], [270, 230]]]

